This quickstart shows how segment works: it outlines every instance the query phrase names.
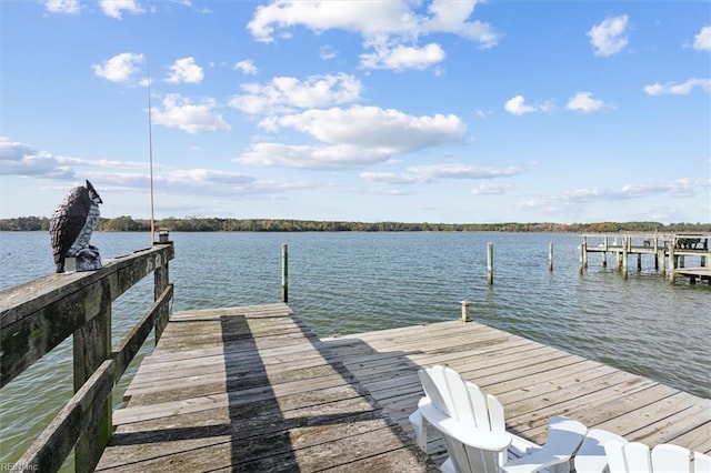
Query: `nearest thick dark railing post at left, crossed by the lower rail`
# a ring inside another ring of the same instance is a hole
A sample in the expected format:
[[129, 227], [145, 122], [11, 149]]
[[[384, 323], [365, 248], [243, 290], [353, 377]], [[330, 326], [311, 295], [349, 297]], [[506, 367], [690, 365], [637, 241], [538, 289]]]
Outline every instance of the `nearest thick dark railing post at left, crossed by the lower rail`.
[[[74, 393], [111, 354], [111, 283], [109, 279], [101, 281], [100, 292], [88, 298], [86, 304], [87, 306], [99, 304], [99, 311], [93, 319], [74, 331]], [[92, 472], [99, 463], [103, 449], [111, 440], [112, 397], [109, 394], [101, 409], [97, 411], [93, 422], [74, 446], [74, 470], [78, 473]]]

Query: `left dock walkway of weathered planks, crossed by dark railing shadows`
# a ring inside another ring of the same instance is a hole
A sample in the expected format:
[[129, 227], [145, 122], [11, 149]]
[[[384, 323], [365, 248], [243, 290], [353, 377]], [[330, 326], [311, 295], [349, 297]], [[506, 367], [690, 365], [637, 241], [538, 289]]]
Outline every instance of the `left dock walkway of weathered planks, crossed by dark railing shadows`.
[[286, 304], [173, 314], [97, 471], [437, 471]]

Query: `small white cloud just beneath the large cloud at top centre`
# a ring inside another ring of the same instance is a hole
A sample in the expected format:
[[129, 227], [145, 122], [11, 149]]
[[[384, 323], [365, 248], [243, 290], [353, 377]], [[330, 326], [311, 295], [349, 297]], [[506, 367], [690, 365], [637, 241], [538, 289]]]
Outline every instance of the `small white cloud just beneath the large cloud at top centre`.
[[444, 60], [444, 50], [437, 43], [423, 48], [397, 46], [393, 49], [377, 48], [375, 52], [360, 56], [365, 69], [427, 69]]

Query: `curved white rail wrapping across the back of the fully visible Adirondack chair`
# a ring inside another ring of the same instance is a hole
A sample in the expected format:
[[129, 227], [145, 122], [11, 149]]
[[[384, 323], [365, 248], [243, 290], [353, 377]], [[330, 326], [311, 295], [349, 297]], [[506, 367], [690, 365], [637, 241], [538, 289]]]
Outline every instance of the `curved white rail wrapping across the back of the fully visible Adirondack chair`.
[[492, 432], [452, 419], [430, 402], [420, 402], [419, 412], [437, 430], [474, 449], [501, 452], [511, 444], [507, 432]]

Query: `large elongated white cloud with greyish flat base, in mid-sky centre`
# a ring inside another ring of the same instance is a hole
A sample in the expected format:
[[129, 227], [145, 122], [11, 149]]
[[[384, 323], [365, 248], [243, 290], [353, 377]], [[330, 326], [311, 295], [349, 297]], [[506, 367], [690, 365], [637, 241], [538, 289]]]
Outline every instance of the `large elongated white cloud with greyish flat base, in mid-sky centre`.
[[393, 109], [353, 105], [349, 109], [307, 110], [270, 121], [326, 143], [346, 143], [383, 152], [405, 152], [464, 139], [467, 127], [453, 114], [413, 117]]

